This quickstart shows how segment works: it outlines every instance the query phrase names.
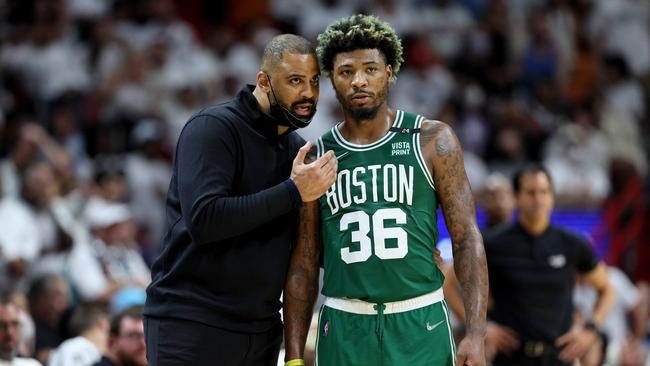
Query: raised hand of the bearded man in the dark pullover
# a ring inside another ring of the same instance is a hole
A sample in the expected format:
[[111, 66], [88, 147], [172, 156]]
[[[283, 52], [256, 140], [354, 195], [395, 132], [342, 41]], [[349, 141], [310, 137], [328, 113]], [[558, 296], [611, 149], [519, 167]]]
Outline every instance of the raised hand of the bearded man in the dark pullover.
[[336, 179], [338, 160], [333, 151], [328, 151], [315, 161], [306, 164], [305, 157], [311, 149], [311, 142], [298, 150], [291, 168], [291, 180], [298, 187], [303, 202], [311, 202], [322, 196]]

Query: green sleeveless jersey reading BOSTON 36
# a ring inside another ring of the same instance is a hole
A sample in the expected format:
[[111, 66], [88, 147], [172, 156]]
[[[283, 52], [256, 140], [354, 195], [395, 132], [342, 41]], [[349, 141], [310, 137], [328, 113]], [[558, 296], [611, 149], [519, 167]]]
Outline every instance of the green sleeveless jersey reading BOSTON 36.
[[336, 126], [318, 140], [319, 156], [333, 150], [338, 158], [336, 181], [320, 199], [324, 295], [384, 303], [442, 286], [423, 119], [397, 111], [397, 130], [368, 145], [345, 141]]

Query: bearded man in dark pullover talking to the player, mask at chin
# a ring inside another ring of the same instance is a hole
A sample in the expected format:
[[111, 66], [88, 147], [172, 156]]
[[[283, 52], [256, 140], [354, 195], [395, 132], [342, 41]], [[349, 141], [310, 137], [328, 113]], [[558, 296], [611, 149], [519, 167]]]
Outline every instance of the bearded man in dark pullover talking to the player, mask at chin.
[[305, 164], [293, 132], [316, 112], [319, 77], [307, 40], [277, 36], [255, 86], [184, 127], [147, 289], [149, 365], [276, 365], [296, 209], [336, 176], [333, 153]]

